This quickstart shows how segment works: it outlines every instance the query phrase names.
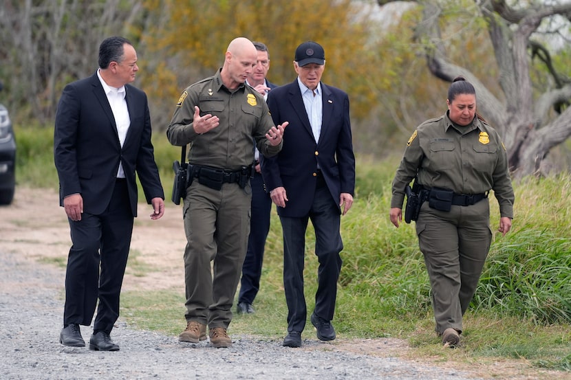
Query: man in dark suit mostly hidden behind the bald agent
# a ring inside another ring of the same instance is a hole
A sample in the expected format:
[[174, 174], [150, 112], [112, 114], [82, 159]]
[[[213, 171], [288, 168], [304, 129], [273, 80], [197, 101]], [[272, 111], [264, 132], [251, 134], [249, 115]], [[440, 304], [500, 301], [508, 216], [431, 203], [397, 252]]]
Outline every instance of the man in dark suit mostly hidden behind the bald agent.
[[[268, 93], [277, 87], [266, 79], [270, 69], [270, 52], [266, 44], [253, 41], [258, 52], [258, 60], [246, 80], [246, 84], [254, 87], [268, 100]], [[255, 174], [250, 179], [252, 186], [252, 216], [250, 218], [250, 236], [248, 236], [248, 251], [242, 265], [240, 279], [240, 293], [238, 295], [237, 312], [239, 314], [255, 313], [254, 299], [260, 289], [261, 266], [263, 264], [263, 251], [266, 238], [270, 232], [270, 212], [272, 212], [272, 199], [263, 185], [259, 164], [259, 150], [255, 148]]]

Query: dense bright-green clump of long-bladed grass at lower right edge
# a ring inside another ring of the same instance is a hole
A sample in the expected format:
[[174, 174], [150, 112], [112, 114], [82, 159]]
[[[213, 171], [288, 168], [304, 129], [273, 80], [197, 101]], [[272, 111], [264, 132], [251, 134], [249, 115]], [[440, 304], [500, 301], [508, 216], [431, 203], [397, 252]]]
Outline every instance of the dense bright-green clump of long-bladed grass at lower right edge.
[[496, 239], [473, 306], [542, 325], [571, 322], [571, 239], [522, 227]]

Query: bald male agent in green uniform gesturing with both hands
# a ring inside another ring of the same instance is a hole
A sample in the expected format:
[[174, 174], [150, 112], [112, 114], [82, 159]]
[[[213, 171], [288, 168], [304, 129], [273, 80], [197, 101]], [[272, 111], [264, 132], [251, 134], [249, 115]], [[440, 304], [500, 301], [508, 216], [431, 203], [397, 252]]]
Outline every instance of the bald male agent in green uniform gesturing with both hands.
[[252, 42], [235, 38], [222, 69], [184, 90], [166, 131], [171, 144], [191, 144], [183, 207], [187, 326], [181, 342], [206, 339], [208, 325], [213, 346], [232, 344], [226, 329], [250, 233], [254, 142], [263, 155], [276, 155], [287, 125], [274, 126], [263, 96], [244, 85], [256, 61]]

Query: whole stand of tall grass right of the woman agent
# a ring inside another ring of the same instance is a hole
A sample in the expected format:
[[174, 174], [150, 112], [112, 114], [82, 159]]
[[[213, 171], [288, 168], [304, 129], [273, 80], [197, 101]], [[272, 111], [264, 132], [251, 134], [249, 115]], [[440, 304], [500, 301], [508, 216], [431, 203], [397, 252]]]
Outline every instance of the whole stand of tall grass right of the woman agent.
[[495, 236], [475, 309], [540, 325], [571, 322], [570, 178], [528, 177], [515, 186], [513, 230]]

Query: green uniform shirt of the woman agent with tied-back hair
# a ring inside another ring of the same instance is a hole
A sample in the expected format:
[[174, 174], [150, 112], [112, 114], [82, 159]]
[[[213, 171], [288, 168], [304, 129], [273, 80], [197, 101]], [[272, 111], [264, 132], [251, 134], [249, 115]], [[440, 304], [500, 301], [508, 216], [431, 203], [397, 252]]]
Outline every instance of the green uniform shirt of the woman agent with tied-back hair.
[[478, 118], [468, 126], [455, 126], [446, 114], [416, 128], [396, 171], [391, 208], [402, 208], [405, 186], [417, 169], [418, 183], [427, 188], [457, 194], [494, 190], [500, 216], [513, 218], [514, 194], [506, 148], [495, 129]]

